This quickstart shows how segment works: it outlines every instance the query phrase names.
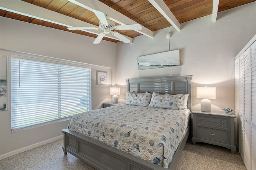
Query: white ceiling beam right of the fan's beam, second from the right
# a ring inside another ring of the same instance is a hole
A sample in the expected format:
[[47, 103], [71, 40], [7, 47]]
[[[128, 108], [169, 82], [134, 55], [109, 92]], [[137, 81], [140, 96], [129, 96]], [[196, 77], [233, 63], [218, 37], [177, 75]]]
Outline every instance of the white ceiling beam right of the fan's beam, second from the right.
[[180, 31], [180, 23], [177, 18], [172, 14], [168, 6], [164, 3], [163, 0], [148, 0], [155, 8], [158, 10], [164, 18], [172, 24], [172, 26]]

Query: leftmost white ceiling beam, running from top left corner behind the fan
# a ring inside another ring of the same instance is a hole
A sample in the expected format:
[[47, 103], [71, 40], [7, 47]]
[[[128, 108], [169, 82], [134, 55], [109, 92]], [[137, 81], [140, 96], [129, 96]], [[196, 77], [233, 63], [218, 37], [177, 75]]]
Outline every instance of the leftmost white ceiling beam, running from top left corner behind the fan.
[[[10, 1], [10, 0], [1, 0], [0, 4], [0, 9], [6, 10], [9, 12], [14, 12], [16, 14], [36, 18], [39, 20], [47, 21], [50, 23], [56, 23], [58, 25], [62, 25], [65, 27], [95, 27], [95, 25], [62, 15], [58, 12], [54, 12], [51, 10], [47, 10], [45, 8], [35, 6], [33, 4], [21, 1], [21, 0], [15, 0], [15, 1]], [[81, 31], [86, 31], [88, 33], [93, 33], [99, 35], [102, 30], [81, 30]], [[125, 36], [125, 35], [124, 35]], [[105, 37], [111, 38], [111, 39], [116, 39], [120, 41], [120, 39], [117, 39], [114, 35], [112, 34], [106, 34]], [[130, 43], [132, 43], [132, 38], [127, 37], [130, 40]]]

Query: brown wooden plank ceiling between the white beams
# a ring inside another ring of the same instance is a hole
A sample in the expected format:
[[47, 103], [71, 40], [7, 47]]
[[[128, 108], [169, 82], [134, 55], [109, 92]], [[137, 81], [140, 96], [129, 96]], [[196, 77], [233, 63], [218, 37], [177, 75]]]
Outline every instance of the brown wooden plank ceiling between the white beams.
[[[3, 1], [3, 0], [1, 0]], [[39, 6], [47, 10], [57, 12], [59, 14], [76, 18], [80, 21], [90, 23], [98, 26], [99, 20], [94, 12], [78, 6], [68, 0], [22, 0], [34, 6]], [[157, 1], [157, 0], [155, 0]], [[237, 6], [248, 4], [256, 0], [219, 0], [218, 12], [228, 10]], [[106, 4], [108, 7], [116, 10], [120, 14], [130, 18], [133, 21], [144, 26], [150, 31], [157, 31], [166, 27], [172, 26], [158, 10], [149, 2], [149, 0], [100, 0], [100, 3]], [[169, 8], [170, 12], [178, 20], [179, 23], [194, 20], [203, 16], [212, 14], [213, 0], [164, 0], [164, 3]], [[1, 4], [0, 4], [1, 6]], [[1, 16], [12, 18], [14, 20], [25, 21], [33, 24], [38, 24], [55, 29], [61, 29], [72, 33], [77, 33], [89, 37], [96, 38], [98, 35], [88, 33], [81, 30], [68, 30], [66, 26], [52, 23], [49, 21], [40, 20], [31, 16], [16, 14], [8, 10], [1, 9]], [[218, 19], [217, 19], [218, 20]], [[115, 25], [120, 25], [115, 22]], [[82, 26], [82, 25], [81, 25]], [[181, 29], [182, 31], [182, 29]], [[118, 30], [118, 33], [126, 35], [127, 37], [137, 37], [142, 35], [134, 30]], [[103, 40], [120, 42], [116, 39], [104, 37]]]

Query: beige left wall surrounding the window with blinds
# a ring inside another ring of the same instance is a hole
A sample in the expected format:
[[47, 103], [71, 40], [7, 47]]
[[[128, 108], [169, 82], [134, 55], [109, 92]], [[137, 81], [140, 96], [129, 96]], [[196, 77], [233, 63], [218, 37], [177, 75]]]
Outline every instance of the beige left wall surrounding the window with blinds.
[[[109, 90], [111, 84], [115, 84], [116, 43], [102, 41], [95, 45], [91, 37], [3, 17], [0, 19], [0, 36], [0, 53], [3, 56], [42, 55], [90, 64], [92, 109], [111, 101]], [[96, 85], [97, 71], [107, 72], [108, 85]], [[10, 72], [8, 78], [8, 110], [0, 113], [1, 158], [56, 140], [62, 135], [60, 130], [68, 126], [67, 120], [12, 133]]]

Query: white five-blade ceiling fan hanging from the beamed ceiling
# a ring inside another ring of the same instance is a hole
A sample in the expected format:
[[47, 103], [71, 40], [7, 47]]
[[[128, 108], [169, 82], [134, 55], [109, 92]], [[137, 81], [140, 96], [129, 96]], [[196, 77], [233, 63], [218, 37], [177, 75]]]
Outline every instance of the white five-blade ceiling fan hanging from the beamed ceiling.
[[128, 29], [140, 30], [140, 29], [142, 29], [142, 26], [140, 24], [116, 25], [115, 26], [115, 23], [111, 20], [108, 20], [103, 12], [100, 12], [97, 10], [93, 10], [93, 12], [100, 20], [99, 27], [68, 27], [68, 29], [69, 30], [77, 30], [77, 29], [79, 29], [79, 30], [81, 30], [81, 29], [104, 30], [104, 32], [100, 33], [98, 35], [98, 37], [94, 40], [94, 42], [93, 42], [94, 44], [100, 43], [100, 41], [102, 40], [104, 35], [106, 35], [108, 33], [111, 33], [112, 35], [114, 35], [115, 37], [120, 39], [120, 41], [123, 41], [124, 43], [129, 43], [130, 40], [128, 38], [126, 38], [124, 35], [116, 32], [116, 31], [112, 31], [112, 30], [113, 29], [116, 29], [116, 30], [128, 30]]

